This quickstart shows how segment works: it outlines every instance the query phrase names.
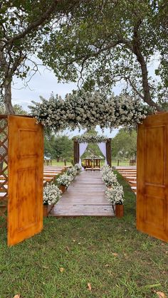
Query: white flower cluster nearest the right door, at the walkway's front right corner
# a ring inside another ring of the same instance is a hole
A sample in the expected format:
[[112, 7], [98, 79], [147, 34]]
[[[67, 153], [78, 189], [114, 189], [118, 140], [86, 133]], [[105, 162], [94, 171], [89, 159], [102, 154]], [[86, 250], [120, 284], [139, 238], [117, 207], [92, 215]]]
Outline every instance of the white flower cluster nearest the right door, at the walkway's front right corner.
[[117, 185], [114, 188], [107, 189], [107, 191], [105, 191], [105, 198], [107, 198], [112, 205], [122, 205], [124, 203], [124, 192], [122, 186]]

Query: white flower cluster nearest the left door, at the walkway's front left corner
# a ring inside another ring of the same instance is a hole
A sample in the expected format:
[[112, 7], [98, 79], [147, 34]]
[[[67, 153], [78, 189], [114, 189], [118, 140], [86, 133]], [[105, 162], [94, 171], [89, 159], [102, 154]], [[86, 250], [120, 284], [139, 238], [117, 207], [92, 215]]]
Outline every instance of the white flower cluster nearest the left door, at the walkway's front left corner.
[[61, 198], [62, 191], [53, 183], [47, 183], [43, 188], [43, 205], [56, 204]]

